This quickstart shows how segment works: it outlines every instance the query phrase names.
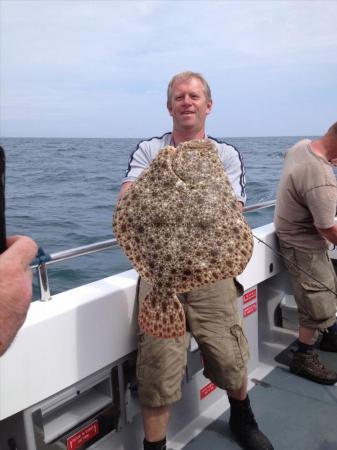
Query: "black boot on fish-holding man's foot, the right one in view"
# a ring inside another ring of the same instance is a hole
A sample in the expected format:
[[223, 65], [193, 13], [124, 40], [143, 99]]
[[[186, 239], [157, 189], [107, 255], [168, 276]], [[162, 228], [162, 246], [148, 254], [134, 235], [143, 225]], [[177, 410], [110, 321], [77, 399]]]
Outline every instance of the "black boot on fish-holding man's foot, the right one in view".
[[273, 450], [271, 442], [256, 423], [248, 396], [242, 401], [228, 398], [231, 405], [229, 429], [238, 444], [245, 450]]

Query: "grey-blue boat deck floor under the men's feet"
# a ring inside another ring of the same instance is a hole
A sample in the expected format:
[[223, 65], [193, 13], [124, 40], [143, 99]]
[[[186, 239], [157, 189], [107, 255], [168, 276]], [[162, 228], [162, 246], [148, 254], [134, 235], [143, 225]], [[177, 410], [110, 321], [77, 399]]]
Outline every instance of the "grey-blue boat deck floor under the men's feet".
[[[288, 347], [275, 359], [287, 363]], [[318, 352], [330, 368], [337, 370], [335, 354]], [[263, 379], [251, 380], [249, 396], [260, 428], [275, 450], [337, 449], [337, 386], [324, 386], [291, 374], [278, 365]], [[228, 428], [229, 411], [192, 439], [184, 450], [238, 450]]]

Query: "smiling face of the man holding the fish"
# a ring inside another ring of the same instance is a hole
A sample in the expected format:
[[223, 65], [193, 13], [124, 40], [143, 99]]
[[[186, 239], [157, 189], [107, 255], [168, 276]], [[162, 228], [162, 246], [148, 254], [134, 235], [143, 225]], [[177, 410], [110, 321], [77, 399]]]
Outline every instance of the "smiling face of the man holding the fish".
[[205, 127], [207, 114], [212, 109], [212, 100], [206, 98], [202, 82], [198, 78], [177, 81], [172, 87], [168, 110], [173, 118], [175, 130], [201, 131]]

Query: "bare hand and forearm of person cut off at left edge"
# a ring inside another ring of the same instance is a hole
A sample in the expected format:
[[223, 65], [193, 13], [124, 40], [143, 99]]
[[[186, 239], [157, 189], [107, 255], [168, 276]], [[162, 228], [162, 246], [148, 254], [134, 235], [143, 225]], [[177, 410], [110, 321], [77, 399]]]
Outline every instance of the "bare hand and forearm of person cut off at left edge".
[[7, 239], [0, 255], [0, 356], [25, 321], [32, 299], [32, 273], [29, 264], [37, 254], [36, 243], [26, 236]]

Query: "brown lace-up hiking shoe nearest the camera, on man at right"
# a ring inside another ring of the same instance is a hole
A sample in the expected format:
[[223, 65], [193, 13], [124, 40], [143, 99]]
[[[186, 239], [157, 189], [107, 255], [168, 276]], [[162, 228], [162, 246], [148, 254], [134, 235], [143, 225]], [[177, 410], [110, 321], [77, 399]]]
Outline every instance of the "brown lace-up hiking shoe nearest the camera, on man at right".
[[327, 369], [319, 360], [317, 353], [294, 352], [290, 372], [320, 384], [335, 384], [337, 373]]

